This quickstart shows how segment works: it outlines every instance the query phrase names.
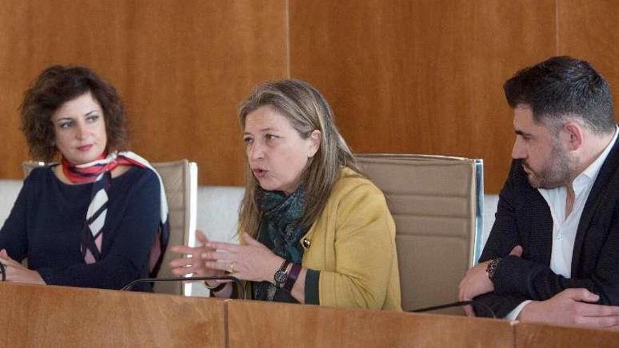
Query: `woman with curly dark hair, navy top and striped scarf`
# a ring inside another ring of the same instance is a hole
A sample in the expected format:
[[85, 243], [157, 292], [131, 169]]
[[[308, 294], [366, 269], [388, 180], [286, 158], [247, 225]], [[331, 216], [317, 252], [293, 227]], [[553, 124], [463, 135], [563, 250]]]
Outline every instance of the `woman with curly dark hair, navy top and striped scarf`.
[[20, 111], [32, 158], [59, 163], [25, 179], [0, 230], [0, 281], [120, 289], [153, 276], [169, 234], [167, 202], [151, 165], [126, 151], [114, 87], [87, 67], [54, 65]]

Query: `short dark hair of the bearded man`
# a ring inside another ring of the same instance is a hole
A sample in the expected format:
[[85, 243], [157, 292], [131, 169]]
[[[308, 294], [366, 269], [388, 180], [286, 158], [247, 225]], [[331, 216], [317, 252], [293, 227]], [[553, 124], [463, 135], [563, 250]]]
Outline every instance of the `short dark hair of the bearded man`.
[[615, 129], [611, 88], [584, 60], [549, 58], [516, 72], [503, 89], [509, 106], [527, 105], [535, 122], [553, 125], [571, 116], [596, 134]]

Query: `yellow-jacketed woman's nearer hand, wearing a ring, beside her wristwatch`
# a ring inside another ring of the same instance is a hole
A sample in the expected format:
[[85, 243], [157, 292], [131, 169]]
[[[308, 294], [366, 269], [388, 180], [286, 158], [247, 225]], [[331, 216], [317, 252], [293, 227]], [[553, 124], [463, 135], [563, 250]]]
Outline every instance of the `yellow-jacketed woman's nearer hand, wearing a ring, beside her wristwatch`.
[[247, 245], [209, 242], [205, 244], [202, 259], [208, 269], [229, 271], [231, 276], [245, 281], [269, 281], [275, 283], [275, 272], [283, 259], [247, 233], [243, 233]]

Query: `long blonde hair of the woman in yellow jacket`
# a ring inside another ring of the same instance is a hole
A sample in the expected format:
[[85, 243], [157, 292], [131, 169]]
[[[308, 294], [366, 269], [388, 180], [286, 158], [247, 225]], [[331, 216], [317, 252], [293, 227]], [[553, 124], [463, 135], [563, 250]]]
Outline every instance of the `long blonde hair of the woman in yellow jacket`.
[[[302, 138], [307, 138], [314, 130], [320, 131], [320, 147], [309, 159], [301, 179], [305, 185], [305, 212], [300, 226], [309, 228], [324, 209], [341, 167], [361, 173], [357, 160], [336, 127], [331, 107], [319, 91], [307, 82], [282, 79], [257, 86], [238, 110], [238, 121], [243, 129], [247, 116], [263, 106], [286, 117]], [[257, 235], [261, 219], [257, 202], [259, 188], [260, 183], [246, 163], [245, 195], [238, 213], [239, 233]]]

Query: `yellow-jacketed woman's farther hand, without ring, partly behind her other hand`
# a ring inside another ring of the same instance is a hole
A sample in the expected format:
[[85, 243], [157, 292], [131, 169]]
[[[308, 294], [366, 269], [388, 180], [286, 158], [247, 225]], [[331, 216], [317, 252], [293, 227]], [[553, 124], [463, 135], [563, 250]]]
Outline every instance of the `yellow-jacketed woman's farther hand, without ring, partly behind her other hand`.
[[172, 273], [177, 276], [185, 276], [193, 273], [196, 276], [222, 276], [224, 271], [221, 268], [207, 266], [206, 262], [212, 262], [212, 259], [206, 258], [204, 255], [209, 252], [215, 252], [214, 249], [208, 247], [209, 240], [200, 230], [196, 231], [196, 238], [200, 242], [199, 247], [188, 247], [186, 245], [173, 245], [170, 250], [179, 254], [187, 254], [188, 257], [181, 259], [173, 259], [170, 261]]

